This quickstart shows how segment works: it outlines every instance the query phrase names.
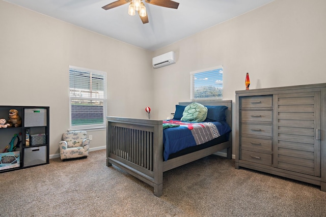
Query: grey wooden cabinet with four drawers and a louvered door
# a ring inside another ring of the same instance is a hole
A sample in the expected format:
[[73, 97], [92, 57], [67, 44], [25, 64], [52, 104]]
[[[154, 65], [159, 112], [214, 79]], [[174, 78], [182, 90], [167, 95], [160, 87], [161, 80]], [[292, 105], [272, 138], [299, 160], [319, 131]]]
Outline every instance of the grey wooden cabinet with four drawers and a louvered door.
[[326, 83], [236, 91], [235, 168], [326, 191]]

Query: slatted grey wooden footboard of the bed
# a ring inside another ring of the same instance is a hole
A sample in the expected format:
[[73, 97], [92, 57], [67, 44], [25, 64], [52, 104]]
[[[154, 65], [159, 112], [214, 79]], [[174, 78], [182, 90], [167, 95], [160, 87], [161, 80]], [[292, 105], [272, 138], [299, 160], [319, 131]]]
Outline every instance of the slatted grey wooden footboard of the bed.
[[115, 166], [163, 191], [162, 120], [107, 117], [106, 166]]

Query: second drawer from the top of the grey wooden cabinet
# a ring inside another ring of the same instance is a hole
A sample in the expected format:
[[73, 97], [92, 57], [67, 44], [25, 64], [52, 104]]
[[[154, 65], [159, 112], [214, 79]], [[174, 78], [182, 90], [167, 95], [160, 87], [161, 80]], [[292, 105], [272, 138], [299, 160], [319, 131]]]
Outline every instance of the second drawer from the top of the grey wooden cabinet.
[[259, 122], [259, 121], [273, 121], [273, 112], [272, 111], [252, 111], [246, 110], [241, 111], [240, 113], [241, 122]]

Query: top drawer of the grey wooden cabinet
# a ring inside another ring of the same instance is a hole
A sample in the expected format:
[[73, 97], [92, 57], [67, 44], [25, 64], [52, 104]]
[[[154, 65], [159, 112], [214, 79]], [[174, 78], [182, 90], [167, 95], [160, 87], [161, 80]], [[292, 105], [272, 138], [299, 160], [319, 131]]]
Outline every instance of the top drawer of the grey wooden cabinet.
[[240, 109], [272, 108], [273, 96], [241, 97]]

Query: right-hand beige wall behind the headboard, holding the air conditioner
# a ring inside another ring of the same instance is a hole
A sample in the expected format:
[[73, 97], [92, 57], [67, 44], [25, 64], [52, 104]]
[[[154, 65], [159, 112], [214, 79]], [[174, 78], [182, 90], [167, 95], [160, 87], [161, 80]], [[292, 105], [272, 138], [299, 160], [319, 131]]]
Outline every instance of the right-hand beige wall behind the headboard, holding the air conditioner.
[[214, 66], [223, 65], [225, 100], [235, 101], [247, 72], [251, 89], [324, 83], [325, 39], [326, 1], [276, 0], [156, 50], [177, 55], [176, 64], [153, 70], [157, 117], [189, 101], [189, 72]]

